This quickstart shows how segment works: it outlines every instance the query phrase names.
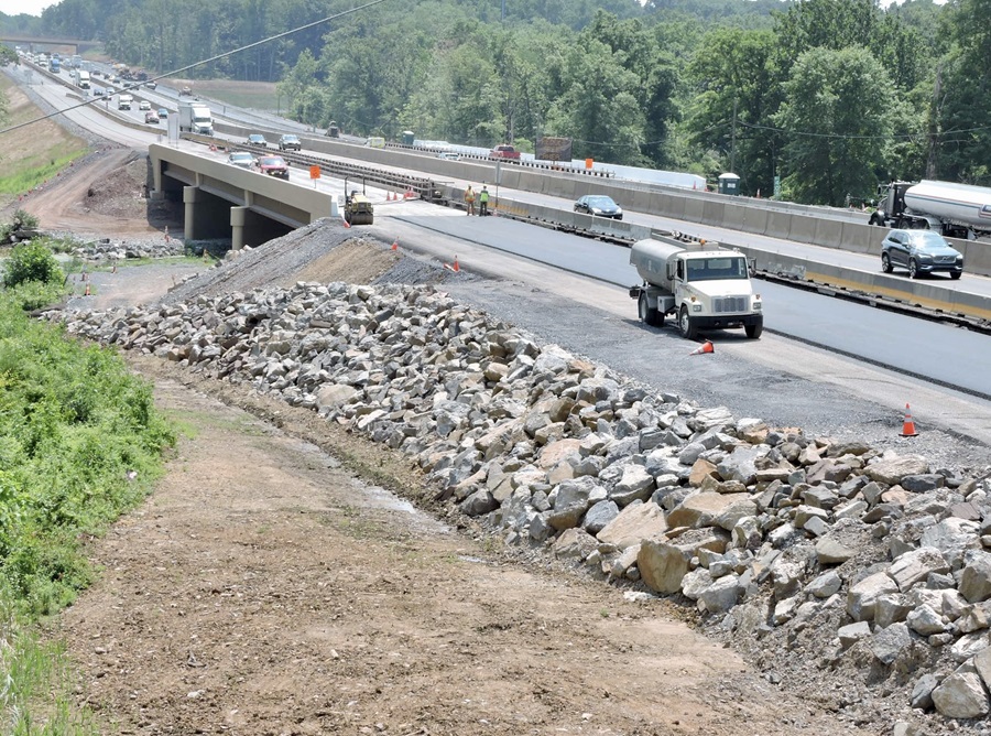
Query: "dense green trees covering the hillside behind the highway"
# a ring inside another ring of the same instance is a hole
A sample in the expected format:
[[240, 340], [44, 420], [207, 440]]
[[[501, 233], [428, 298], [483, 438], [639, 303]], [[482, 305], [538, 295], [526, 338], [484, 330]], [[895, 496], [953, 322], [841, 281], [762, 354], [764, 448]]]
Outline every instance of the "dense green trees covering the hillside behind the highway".
[[[62, 0], [42, 23], [162, 72], [353, 7]], [[841, 204], [894, 177], [991, 184], [989, 28], [991, 0], [385, 1], [189, 73], [277, 79], [293, 117], [346, 132], [564, 136], [576, 158]]]

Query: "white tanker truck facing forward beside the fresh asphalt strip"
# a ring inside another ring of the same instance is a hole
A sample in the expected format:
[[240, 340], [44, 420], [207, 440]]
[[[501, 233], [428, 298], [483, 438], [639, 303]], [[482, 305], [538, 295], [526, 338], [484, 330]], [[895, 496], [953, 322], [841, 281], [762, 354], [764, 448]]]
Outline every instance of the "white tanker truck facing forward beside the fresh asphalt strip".
[[761, 296], [753, 293], [747, 257], [737, 250], [655, 236], [633, 243], [630, 264], [643, 279], [630, 296], [644, 324], [660, 327], [665, 315], [674, 315], [687, 339], [699, 331], [736, 327], [755, 339], [764, 331]]

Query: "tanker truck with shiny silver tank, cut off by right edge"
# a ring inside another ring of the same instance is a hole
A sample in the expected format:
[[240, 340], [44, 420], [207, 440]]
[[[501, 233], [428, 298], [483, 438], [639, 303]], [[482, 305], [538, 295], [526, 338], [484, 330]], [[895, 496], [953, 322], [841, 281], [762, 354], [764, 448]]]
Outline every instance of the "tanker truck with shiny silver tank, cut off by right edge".
[[923, 180], [892, 182], [879, 194], [871, 225], [929, 229], [965, 240], [991, 235], [991, 188]]

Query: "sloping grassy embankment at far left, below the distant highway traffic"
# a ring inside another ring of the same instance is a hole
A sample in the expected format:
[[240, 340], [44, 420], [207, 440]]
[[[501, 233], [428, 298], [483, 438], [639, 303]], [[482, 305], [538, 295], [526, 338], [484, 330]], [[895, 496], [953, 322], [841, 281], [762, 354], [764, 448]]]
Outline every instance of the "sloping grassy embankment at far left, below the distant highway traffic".
[[[0, 129], [42, 117], [42, 111], [6, 75], [0, 75]], [[3, 110], [6, 109], [6, 117]], [[86, 141], [44, 120], [3, 134], [0, 208], [57, 176], [86, 155]]]

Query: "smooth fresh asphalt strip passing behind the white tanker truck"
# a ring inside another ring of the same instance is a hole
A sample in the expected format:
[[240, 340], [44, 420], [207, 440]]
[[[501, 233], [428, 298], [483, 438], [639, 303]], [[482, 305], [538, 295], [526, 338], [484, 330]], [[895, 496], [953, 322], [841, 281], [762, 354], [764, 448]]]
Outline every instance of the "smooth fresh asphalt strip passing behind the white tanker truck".
[[[470, 217], [403, 219], [623, 292], [641, 283], [629, 249], [621, 246], [499, 217], [483, 220], [481, 229]], [[766, 331], [991, 400], [991, 346], [984, 335], [765, 281], [755, 281], [754, 288], [763, 296]], [[635, 315], [632, 300], [631, 310]]]

